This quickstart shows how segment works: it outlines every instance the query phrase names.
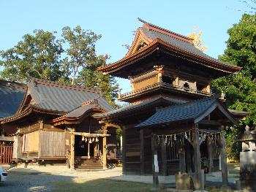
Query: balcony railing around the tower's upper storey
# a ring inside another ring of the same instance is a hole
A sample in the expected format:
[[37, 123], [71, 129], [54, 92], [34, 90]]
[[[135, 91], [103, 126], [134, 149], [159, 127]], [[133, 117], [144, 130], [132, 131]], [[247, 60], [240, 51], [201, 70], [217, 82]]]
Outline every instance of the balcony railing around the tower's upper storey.
[[172, 84], [166, 83], [166, 82], [157, 82], [157, 83], [154, 83], [152, 85], [148, 85], [145, 88], [140, 88], [140, 89], [135, 90], [135, 91], [130, 91], [128, 93], [120, 94], [118, 96], [118, 100], [127, 99], [130, 96], [140, 95], [140, 94], [145, 93], [147, 91], [152, 91], [156, 88], [166, 88], [170, 91], [178, 91], [178, 92], [196, 94], [196, 95], [200, 95], [200, 96], [212, 96], [212, 95], [214, 95], [211, 92], [208, 93], [206, 91], [199, 91], [199, 90], [192, 89], [192, 88], [184, 88], [184, 87], [181, 87], [181, 86], [178, 86], [178, 85], [172, 85]]

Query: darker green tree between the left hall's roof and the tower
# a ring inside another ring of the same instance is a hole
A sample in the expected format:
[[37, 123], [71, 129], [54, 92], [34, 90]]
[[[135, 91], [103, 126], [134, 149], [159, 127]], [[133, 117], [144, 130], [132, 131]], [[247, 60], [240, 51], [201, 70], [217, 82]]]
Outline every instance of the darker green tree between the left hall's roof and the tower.
[[100, 88], [105, 99], [116, 107], [115, 99], [118, 96], [118, 84], [114, 77], [97, 71], [97, 67], [105, 66], [109, 55], [94, 55], [87, 65], [81, 69], [78, 76], [78, 84], [89, 88]]

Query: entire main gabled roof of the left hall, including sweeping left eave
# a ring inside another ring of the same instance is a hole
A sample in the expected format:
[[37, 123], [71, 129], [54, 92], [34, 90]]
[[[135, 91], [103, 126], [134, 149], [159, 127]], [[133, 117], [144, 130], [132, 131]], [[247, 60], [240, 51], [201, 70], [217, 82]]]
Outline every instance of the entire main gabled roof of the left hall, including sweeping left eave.
[[97, 99], [102, 110], [106, 112], [113, 110], [99, 89], [33, 79], [27, 85], [26, 96], [18, 112], [2, 120], [8, 122], [24, 117], [31, 112], [65, 115], [80, 107], [84, 102], [94, 99]]

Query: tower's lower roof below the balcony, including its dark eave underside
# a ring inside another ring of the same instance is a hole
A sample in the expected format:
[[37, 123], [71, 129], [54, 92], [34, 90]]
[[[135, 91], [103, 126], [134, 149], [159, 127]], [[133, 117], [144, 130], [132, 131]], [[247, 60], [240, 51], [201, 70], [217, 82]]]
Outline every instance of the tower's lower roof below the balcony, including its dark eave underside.
[[154, 105], [156, 105], [157, 107], [157, 104], [159, 103], [165, 103], [167, 105], [170, 105], [170, 104], [182, 104], [185, 102], [187, 101], [184, 101], [181, 99], [171, 99], [165, 96], [159, 96], [154, 99], [148, 99], [146, 101], [140, 102], [138, 104], [128, 104], [117, 110], [94, 115], [94, 118], [108, 119], [108, 118], [118, 117], [121, 115], [132, 115], [132, 114], [134, 115], [135, 112], [138, 112], [141, 110], [144, 111], [148, 107], [153, 108]]

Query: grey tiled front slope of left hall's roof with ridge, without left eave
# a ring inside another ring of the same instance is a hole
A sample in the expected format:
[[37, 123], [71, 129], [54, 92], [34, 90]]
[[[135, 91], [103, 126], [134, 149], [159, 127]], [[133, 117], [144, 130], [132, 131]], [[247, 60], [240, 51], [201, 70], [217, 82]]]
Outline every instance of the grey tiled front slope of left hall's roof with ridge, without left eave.
[[100, 107], [107, 112], [113, 110], [102, 96], [100, 90], [94, 88], [83, 88], [77, 85], [64, 85], [57, 82], [34, 79], [29, 82], [29, 91], [35, 103], [33, 107], [70, 112], [85, 101], [97, 99]]

